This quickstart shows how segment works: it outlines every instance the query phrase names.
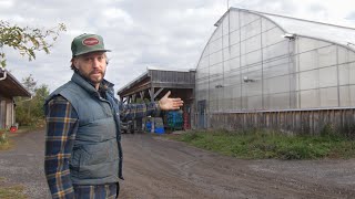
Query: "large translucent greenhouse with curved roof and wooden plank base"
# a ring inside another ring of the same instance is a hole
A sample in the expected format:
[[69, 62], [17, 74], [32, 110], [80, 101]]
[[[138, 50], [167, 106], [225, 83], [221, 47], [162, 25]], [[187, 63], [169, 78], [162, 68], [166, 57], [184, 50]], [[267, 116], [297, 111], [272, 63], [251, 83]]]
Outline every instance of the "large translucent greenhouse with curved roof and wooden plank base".
[[231, 8], [196, 66], [197, 128], [352, 130], [355, 29]]

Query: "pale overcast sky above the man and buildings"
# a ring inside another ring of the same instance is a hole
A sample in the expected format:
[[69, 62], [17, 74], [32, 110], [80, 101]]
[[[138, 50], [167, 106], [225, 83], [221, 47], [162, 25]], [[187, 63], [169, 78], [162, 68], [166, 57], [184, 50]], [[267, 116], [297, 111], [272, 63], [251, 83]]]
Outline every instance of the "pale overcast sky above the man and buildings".
[[[355, 27], [352, 0], [230, 0], [229, 6]], [[53, 91], [72, 75], [72, 39], [98, 33], [112, 50], [105, 78], [119, 90], [148, 66], [195, 69], [226, 10], [226, 0], [0, 0], [1, 20], [47, 29], [64, 23], [68, 29], [50, 54], [38, 53], [32, 62], [6, 49], [7, 70], [20, 82], [32, 74]]]

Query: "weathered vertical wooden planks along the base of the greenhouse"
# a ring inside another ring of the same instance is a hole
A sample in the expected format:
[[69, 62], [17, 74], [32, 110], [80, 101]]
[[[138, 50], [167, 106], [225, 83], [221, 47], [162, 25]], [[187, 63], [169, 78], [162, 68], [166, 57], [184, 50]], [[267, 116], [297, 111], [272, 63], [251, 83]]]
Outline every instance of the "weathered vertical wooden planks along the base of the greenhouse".
[[213, 113], [207, 118], [209, 127], [214, 129], [267, 128], [304, 135], [332, 130], [355, 137], [355, 108]]

